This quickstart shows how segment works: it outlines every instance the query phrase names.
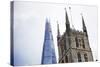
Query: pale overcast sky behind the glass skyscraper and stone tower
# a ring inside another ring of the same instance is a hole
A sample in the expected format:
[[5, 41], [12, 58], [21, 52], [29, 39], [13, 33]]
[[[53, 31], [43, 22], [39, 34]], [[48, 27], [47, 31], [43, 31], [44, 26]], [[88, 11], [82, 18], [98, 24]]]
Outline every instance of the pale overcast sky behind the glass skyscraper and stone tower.
[[[69, 10], [71, 7], [71, 12]], [[93, 51], [94, 60], [97, 59], [97, 7], [83, 5], [68, 5], [39, 2], [15, 2], [14, 5], [14, 45], [15, 52], [23, 59], [31, 60], [32, 64], [40, 64], [42, 57], [44, 30], [46, 18], [49, 19], [52, 28], [56, 56], [57, 48], [57, 21], [60, 33], [65, 31], [65, 10], [74, 28], [82, 31], [83, 14], [87, 27], [90, 47]], [[72, 20], [71, 20], [72, 16]], [[26, 62], [24, 62], [26, 63]]]

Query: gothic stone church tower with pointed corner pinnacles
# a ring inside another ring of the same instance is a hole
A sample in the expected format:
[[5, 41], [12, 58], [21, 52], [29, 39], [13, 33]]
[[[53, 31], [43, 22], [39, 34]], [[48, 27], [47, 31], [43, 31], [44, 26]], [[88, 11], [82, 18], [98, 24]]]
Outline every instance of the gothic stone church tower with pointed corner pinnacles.
[[82, 16], [83, 31], [70, 28], [67, 11], [65, 10], [66, 31], [61, 36], [58, 25], [58, 52], [59, 63], [88, 62], [93, 61], [92, 51], [89, 45], [87, 29]]

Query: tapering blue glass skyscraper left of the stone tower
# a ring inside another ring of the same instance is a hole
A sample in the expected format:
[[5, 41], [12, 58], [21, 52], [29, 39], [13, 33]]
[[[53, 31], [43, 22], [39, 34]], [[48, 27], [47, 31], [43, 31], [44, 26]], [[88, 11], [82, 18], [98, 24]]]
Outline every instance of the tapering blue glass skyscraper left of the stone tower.
[[56, 64], [56, 63], [57, 61], [56, 61], [56, 56], [55, 56], [55, 49], [54, 49], [54, 42], [53, 42], [51, 26], [50, 26], [48, 19], [46, 19], [41, 64]]

